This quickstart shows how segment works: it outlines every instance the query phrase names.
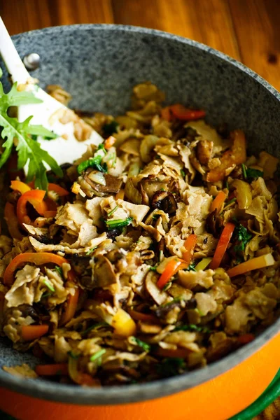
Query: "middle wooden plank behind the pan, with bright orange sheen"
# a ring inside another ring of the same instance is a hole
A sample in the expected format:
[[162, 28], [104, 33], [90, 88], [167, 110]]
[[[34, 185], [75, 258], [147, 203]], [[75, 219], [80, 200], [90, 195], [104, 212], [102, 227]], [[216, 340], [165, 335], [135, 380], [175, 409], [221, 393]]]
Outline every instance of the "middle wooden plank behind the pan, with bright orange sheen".
[[114, 19], [193, 38], [239, 59], [228, 0], [112, 0]]

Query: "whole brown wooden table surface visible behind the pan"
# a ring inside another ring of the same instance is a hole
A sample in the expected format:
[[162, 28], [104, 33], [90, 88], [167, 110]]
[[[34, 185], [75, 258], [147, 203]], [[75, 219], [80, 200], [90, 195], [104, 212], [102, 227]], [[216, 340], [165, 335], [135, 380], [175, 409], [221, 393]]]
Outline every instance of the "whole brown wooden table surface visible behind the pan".
[[[280, 0], [0, 0], [0, 15], [11, 35], [73, 23], [161, 29], [225, 52], [280, 90]], [[280, 399], [259, 417], [279, 419]]]

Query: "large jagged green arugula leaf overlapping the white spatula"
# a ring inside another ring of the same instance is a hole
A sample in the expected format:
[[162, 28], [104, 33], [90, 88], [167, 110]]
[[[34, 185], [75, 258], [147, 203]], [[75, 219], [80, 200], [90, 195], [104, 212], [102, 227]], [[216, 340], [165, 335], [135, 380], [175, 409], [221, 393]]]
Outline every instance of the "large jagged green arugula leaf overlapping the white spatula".
[[31, 138], [31, 134], [53, 138], [54, 134], [38, 125], [29, 125], [32, 116], [20, 123], [18, 118], [8, 116], [10, 106], [25, 104], [39, 104], [41, 99], [34, 97], [32, 92], [19, 92], [17, 83], [13, 84], [10, 92], [3, 92], [3, 85], [0, 83], [0, 127], [1, 137], [4, 140], [2, 147], [5, 149], [1, 154], [0, 167], [6, 163], [12, 151], [15, 139], [16, 151], [18, 152], [18, 169], [22, 169], [28, 162], [27, 182], [35, 179], [35, 187], [42, 190], [48, 189], [48, 179], [43, 162], [47, 163], [57, 176], [63, 176], [62, 169], [57, 162], [41, 146]]

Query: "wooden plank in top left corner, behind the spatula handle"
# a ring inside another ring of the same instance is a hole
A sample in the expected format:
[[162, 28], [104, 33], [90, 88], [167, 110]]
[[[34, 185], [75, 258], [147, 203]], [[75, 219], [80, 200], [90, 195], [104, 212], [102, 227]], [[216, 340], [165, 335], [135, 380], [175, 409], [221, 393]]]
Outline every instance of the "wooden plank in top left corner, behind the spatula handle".
[[0, 0], [10, 35], [74, 23], [113, 23], [111, 0]]

